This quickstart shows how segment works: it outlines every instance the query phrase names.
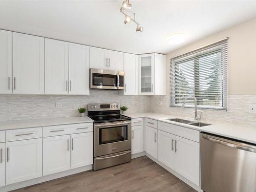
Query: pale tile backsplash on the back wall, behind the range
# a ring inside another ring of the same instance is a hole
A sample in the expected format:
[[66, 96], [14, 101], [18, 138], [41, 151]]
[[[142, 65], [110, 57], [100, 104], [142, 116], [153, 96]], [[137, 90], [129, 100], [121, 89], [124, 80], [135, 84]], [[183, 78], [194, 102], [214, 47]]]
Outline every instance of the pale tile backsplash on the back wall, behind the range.
[[[55, 108], [61, 102], [62, 108]], [[123, 96], [118, 91], [90, 91], [90, 95], [0, 95], [0, 121], [78, 116], [88, 103], [119, 102], [130, 113], [150, 111], [149, 96]]]

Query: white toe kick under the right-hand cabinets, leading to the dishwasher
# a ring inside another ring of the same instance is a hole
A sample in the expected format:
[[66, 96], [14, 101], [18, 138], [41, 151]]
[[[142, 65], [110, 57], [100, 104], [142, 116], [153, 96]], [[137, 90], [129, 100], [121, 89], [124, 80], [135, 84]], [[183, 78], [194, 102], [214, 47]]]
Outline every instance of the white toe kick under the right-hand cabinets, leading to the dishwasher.
[[148, 158], [150, 158], [151, 160], [155, 161], [157, 164], [159, 164], [161, 167], [165, 168], [166, 170], [168, 170], [168, 172], [170, 172], [171, 174], [175, 175], [176, 177], [178, 177], [181, 181], [185, 182], [186, 184], [188, 184], [190, 187], [194, 188], [195, 190], [199, 191], [199, 192], [203, 192], [203, 190], [200, 188], [200, 186], [197, 186], [196, 184], [192, 183], [191, 181], [187, 180], [186, 178], [184, 178], [183, 176], [181, 176], [180, 174], [178, 174], [177, 172], [175, 172], [175, 170], [167, 167], [166, 165], [164, 165], [163, 163], [161, 163], [160, 161], [158, 161], [157, 159], [155, 159], [154, 157], [152, 157], [150, 154], [146, 153], [146, 156]]

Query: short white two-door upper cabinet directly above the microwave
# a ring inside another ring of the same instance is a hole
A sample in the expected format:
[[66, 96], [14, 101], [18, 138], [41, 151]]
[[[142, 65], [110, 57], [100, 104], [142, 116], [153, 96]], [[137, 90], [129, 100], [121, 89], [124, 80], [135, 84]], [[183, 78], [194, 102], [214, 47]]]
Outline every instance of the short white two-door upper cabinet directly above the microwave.
[[123, 53], [91, 47], [90, 68], [123, 71]]

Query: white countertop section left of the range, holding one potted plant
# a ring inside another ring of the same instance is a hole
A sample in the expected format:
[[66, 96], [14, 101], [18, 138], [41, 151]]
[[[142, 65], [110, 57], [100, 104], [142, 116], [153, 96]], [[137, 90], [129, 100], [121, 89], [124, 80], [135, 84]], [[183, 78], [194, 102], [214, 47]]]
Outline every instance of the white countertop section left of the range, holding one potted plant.
[[93, 120], [87, 116], [85, 117], [57, 117], [44, 119], [29, 119], [29, 120], [15, 120], [15, 121], [0, 121], [0, 131], [23, 129], [29, 127], [52, 126], [61, 124], [75, 124], [75, 123], [89, 123]]

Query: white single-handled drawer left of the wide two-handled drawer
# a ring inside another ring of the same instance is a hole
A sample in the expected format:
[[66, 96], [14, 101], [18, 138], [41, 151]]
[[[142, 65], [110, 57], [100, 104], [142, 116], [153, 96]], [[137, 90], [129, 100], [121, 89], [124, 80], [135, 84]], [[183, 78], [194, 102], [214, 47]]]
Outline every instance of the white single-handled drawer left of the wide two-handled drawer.
[[6, 134], [6, 142], [25, 140], [25, 139], [35, 139], [35, 138], [42, 137], [42, 127], [33, 127], [33, 128], [18, 129], [18, 130], [7, 130], [5, 134]]

